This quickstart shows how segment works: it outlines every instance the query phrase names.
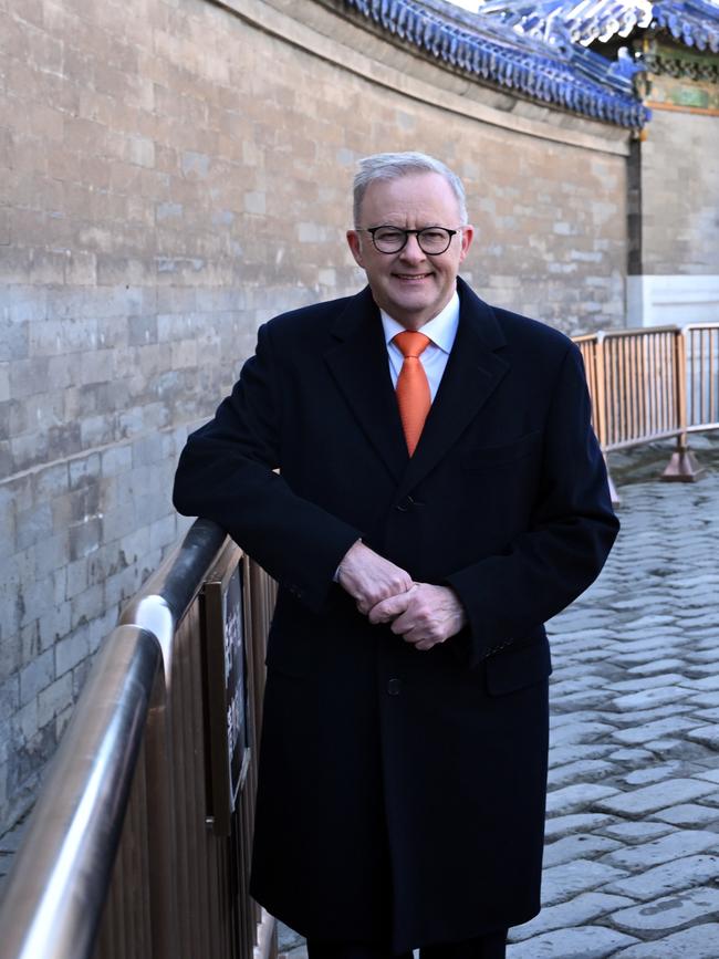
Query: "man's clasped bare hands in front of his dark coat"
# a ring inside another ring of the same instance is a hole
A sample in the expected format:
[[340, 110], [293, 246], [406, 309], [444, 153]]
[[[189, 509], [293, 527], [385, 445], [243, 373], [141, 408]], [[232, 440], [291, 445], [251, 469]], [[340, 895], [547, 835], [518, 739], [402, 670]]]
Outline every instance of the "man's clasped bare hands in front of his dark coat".
[[415, 583], [409, 573], [359, 540], [345, 553], [337, 581], [371, 623], [390, 623], [392, 632], [416, 649], [431, 649], [467, 623], [454, 590]]

